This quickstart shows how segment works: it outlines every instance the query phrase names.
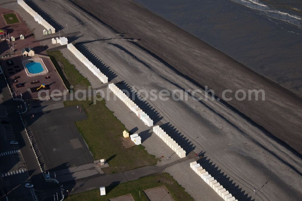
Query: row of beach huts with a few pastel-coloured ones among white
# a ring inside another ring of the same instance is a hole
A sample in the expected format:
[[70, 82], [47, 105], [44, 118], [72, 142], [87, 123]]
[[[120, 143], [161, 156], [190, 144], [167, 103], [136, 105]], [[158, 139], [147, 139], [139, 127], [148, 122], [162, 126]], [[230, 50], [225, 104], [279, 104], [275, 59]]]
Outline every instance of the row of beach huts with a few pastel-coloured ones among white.
[[137, 106], [122, 90], [113, 83], [108, 85], [108, 88], [122, 100], [131, 111], [133, 111], [147, 126], [153, 126], [153, 120], [140, 107]]

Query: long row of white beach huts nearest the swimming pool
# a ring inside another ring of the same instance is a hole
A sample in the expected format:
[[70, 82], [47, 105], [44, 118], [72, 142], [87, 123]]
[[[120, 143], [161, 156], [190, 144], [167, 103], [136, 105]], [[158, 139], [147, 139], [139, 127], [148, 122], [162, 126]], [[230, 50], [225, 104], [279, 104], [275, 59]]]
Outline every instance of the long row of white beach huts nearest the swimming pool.
[[98, 69], [95, 65], [92, 64], [74, 45], [71, 43], [67, 44], [67, 48], [78, 58], [87, 68], [95, 75], [97, 76], [101, 82], [107, 83], [108, 78], [106, 75], [104, 75], [100, 69]]

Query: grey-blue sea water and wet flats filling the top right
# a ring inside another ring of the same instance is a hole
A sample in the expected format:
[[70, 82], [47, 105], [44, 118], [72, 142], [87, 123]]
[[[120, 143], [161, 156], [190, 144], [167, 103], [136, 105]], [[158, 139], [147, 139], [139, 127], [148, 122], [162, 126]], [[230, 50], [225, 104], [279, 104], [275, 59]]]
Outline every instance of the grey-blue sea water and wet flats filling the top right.
[[253, 71], [302, 94], [302, 1], [135, 1]]

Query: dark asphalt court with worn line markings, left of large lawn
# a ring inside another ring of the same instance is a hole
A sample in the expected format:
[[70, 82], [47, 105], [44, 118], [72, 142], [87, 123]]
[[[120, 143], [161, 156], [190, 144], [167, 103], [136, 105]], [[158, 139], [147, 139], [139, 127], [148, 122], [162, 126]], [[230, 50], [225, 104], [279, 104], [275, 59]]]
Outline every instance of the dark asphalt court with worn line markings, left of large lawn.
[[47, 170], [56, 171], [93, 163], [75, 122], [87, 119], [76, 106], [26, 115]]

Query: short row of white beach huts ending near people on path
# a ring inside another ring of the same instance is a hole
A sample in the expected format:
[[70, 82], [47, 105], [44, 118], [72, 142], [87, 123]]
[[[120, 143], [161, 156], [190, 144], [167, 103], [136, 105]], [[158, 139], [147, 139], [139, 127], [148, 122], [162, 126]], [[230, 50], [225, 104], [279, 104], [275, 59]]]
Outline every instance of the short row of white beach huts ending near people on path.
[[186, 151], [181, 148], [181, 146], [178, 145], [162, 128], [154, 126], [153, 132], [159, 136], [162, 141], [164, 141], [180, 158], [186, 157]]

